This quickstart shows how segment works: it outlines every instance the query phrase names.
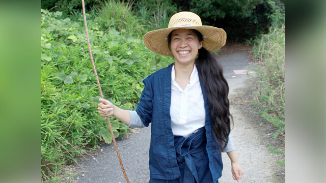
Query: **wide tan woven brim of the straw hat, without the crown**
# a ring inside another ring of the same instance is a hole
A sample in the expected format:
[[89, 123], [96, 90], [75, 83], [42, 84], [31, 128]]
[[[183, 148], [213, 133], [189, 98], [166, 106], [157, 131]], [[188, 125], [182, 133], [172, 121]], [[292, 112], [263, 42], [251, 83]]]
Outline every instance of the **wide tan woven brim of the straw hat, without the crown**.
[[202, 26], [179, 26], [162, 28], [155, 31], [148, 32], [144, 36], [145, 46], [155, 53], [166, 56], [173, 56], [169, 46], [168, 38], [169, 34], [175, 29], [195, 29], [203, 35], [203, 47], [209, 52], [214, 52], [222, 48], [226, 43], [226, 33], [222, 28], [202, 25]]

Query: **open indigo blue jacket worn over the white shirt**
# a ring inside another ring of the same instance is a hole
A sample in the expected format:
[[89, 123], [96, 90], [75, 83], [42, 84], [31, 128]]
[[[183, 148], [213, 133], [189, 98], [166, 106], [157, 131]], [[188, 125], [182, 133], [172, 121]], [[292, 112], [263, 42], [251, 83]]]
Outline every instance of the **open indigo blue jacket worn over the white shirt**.
[[[158, 70], [144, 79], [145, 87], [136, 109], [146, 127], [149, 126], [149, 123], [152, 123], [149, 170], [150, 177], [157, 179], [175, 179], [180, 177], [170, 116], [172, 66], [173, 64]], [[221, 177], [223, 169], [221, 148], [216, 144], [212, 135], [208, 100], [200, 77], [199, 80], [206, 111], [206, 150], [213, 181], [216, 182]]]

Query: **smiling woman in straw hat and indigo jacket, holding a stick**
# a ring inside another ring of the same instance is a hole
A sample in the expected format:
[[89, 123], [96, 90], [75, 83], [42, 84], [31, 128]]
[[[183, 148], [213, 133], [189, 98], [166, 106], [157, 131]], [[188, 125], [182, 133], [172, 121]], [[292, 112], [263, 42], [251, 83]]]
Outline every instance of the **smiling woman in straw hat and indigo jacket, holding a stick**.
[[231, 160], [233, 178], [241, 179], [230, 136], [229, 86], [210, 53], [225, 42], [223, 29], [202, 25], [195, 13], [179, 12], [168, 28], [144, 36], [147, 48], [173, 56], [175, 63], [144, 79], [137, 109], [123, 110], [99, 99], [103, 117], [113, 115], [130, 128], [151, 123], [149, 182], [218, 182], [222, 152]]

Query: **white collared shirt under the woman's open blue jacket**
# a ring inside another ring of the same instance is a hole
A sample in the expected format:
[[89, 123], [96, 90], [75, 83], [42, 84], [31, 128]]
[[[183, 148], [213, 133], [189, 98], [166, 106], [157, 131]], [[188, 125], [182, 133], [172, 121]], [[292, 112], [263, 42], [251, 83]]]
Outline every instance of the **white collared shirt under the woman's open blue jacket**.
[[175, 81], [175, 70], [172, 67], [170, 115], [173, 135], [188, 137], [205, 126], [204, 98], [196, 66], [184, 90]]

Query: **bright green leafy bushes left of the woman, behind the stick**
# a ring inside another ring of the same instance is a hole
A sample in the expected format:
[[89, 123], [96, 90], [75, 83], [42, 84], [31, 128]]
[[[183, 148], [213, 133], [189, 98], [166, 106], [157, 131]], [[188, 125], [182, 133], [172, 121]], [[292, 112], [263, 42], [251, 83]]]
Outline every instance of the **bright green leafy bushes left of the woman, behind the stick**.
[[[115, 28], [101, 30], [94, 14], [87, 14], [87, 18], [104, 98], [121, 108], [135, 109], [144, 87], [142, 80], [172, 63], [172, 59], [151, 52], [141, 39], [121, 34]], [[87, 153], [90, 145], [111, 141], [106, 120], [97, 114], [98, 95], [82, 15], [65, 18], [62, 12], [41, 9], [43, 181], [62, 165], [74, 162], [75, 156]], [[127, 132], [118, 120], [111, 122], [115, 136]]]

